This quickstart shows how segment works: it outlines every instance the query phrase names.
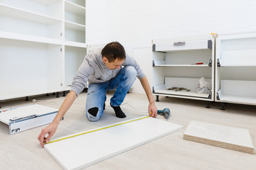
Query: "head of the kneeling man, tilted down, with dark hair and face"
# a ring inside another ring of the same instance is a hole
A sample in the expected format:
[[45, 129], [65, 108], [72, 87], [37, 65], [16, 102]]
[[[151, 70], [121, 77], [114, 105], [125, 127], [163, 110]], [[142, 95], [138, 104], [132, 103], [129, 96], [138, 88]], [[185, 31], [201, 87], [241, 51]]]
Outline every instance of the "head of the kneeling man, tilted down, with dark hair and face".
[[119, 42], [110, 42], [102, 49], [102, 60], [107, 68], [119, 69], [125, 60], [124, 47]]

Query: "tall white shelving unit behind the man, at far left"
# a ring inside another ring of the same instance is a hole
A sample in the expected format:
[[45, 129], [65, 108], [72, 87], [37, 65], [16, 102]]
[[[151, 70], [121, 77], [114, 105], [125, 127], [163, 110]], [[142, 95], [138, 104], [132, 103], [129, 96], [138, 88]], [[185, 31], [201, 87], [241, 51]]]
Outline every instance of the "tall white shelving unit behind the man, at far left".
[[86, 52], [85, 0], [0, 0], [0, 101], [68, 91]]

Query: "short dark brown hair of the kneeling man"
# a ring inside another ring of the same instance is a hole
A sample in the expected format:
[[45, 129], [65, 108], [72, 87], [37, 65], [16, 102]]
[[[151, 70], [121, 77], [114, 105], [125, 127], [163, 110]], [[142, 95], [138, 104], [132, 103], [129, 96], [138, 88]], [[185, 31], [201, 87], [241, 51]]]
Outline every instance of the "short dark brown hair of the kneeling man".
[[108, 43], [102, 49], [102, 57], [106, 57], [109, 62], [114, 62], [114, 60], [124, 60], [125, 57], [124, 47], [117, 41]]

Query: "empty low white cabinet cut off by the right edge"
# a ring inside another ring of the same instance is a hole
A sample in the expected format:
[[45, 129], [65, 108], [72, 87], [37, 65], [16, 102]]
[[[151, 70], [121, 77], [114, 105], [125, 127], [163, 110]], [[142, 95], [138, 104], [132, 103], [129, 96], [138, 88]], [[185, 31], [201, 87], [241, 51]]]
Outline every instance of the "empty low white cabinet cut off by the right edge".
[[256, 105], [256, 33], [216, 38], [215, 101]]

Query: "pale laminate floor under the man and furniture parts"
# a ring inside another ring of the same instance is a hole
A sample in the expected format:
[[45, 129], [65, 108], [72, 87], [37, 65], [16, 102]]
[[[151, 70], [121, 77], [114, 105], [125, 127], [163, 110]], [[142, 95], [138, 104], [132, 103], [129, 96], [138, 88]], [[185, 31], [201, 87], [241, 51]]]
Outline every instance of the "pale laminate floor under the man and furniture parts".
[[[87, 120], [85, 116], [86, 96], [85, 92], [78, 96], [73, 106], [65, 114], [65, 118], [61, 121], [53, 138], [121, 121], [114, 115], [112, 108], [109, 107], [112, 92], [107, 94], [107, 107], [102, 118], [97, 122]], [[21, 98], [4, 101], [0, 104], [2, 108], [21, 106], [31, 103], [33, 98], [38, 100], [38, 104], [53, 108], [59, 108], [64, 100], [63, 96], [55, 98], [55, 96], [50, 95], [34, 96], [30, 98], [30, 101], [24, 101], [24, 98]], [[159, 109], [170, 108], [171, 116], [168, 121], [183, 125], [182, 130], [85, 169], [256, 169], [255, 154], [246, 154], [183, 140], [183, 131], [186, 126], [191, 120], [196, 120], [247, 128], [250, 130], [255, 145], [256, 106], [228, 103], [225, 107], [226, 110], [221, 111], [220, 103], [210, 103], [210, 108], [205, 108], [206, 101], [165, 98], [164, 96], [160, 96], [159, 99], [160, 102], [156, 102], [156, 106]], [[148, 107], [145, 94], [127, 94], [124, 103], [129, 103], [140, 111], [146, 111]], [[147, 115], [147, 113], [134, 110], [129, 105], [124, 104], [122, 106], [122, 110], [127, 115], [127, 118], [122, 120]], [[157, 118], [164, 120], [161, 115], [158, 115]], [[62, 169], [38, 142], [38, 134], [44, 127], [46, 125], [9, 135], [9, 127], [0, 123], [0, 169]]]

